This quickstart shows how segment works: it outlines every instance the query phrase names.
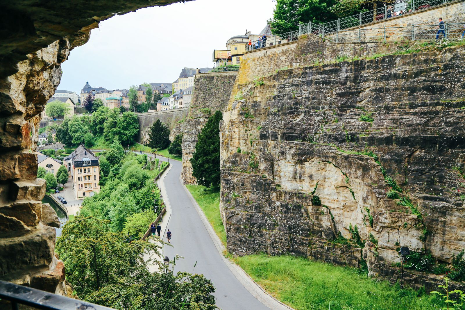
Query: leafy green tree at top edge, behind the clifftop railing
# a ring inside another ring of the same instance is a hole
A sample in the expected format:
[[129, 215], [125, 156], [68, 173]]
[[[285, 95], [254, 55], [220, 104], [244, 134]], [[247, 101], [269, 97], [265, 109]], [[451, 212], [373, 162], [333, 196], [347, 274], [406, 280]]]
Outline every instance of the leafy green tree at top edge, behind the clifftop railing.
[[277, 0], [270, 21], [273, 34], [284, 34], [299, 30], [299, 24], [323, 23], [337, 20], [330, 8], [336, 0]]

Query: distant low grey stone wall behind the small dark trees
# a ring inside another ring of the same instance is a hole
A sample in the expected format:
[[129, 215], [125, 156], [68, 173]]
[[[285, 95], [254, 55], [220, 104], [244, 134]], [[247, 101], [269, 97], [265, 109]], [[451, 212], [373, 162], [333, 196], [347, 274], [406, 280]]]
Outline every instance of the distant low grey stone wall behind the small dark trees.
[[139, 136], [137, 137], [137, 141], [141, 143], [148, 140], [150, 126], [152, 126], [155, 121], [160, 120], [173, 131], [173, 128], [177, 126], [178, 122], [183, 121], [188, 114], [189, 108], [138, 114], [137, 120], [139, 121]]

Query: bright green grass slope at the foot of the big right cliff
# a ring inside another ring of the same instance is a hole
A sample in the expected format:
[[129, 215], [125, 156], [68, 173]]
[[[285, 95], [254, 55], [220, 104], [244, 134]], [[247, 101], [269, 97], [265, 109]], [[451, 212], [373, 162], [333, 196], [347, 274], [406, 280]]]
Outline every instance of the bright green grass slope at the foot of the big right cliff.
[[233, 260], [274, 297], [297, 310], [441, 309], [434, 295], [376, 281], [357, 270], [304, 257], [249, 255]]

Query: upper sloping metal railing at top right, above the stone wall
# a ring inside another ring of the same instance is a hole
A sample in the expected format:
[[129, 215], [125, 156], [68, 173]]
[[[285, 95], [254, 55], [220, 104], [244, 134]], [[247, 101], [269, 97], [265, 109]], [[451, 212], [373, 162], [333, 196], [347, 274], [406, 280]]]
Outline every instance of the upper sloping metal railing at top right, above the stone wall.
[[330, 32], [340, 31], [351, 27], [357, 27], [378, 20], [386, 20], [396, 16], [417, 12], [430, 7], [437, 7], [447, 2], [455, 0], [408, 0], [385, 5], [371, 11], [360, 12], [358, 14], [339, 18], [321, 24]]

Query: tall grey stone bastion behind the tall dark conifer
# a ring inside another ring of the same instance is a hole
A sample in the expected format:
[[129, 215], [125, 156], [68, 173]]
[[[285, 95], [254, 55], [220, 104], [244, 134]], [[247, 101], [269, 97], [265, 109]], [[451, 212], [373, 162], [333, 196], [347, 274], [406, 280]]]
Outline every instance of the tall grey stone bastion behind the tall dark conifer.
[[181, 177], [185, 183], [195, 183], [190, 159], [195, 152], [197, 137], [208, 117], [227, 106], [236, 75], [237, 72], [214, 72], [195, 76], [189, 117], [179, 125], [183, 134]]

